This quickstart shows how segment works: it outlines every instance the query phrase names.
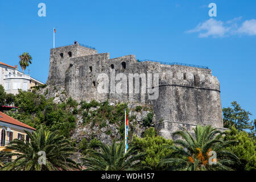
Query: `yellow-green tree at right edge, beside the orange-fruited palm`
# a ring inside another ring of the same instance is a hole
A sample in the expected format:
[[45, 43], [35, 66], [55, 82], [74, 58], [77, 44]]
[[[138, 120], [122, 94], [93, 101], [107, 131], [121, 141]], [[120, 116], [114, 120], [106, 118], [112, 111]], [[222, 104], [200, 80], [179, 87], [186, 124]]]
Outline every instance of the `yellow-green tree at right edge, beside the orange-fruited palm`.
[[237, 170], [256, 170], [256, 142], [245, 131], [238, 131], [235, 127], [226, 131], [225, 140], [237, 140], [238, 142], [226, 147], [241, 160], [241, 165], [233, 166]]

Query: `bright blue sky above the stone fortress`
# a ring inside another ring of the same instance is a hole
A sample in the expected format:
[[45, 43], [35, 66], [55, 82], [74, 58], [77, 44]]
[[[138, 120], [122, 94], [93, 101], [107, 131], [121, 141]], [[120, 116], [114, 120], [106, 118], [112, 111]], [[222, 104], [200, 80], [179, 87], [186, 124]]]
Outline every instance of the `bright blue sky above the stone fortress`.
[[[46, 4], [46, 17], [38, 4]], [[209, 3], [217, 17], [209, 17]], [[47, 81], [49, 49], [74, 40], [110, 57], [206, 65], [221, 84], [222, 107], [236, 100], [256, 118], [256, 1], [6, 1], [0, 2], [0, 61], [32, 55], [32, 77]], [[20, 68], [19, 68], [20, 69]], [[20, 69], [21, 70], [21, 69]]]

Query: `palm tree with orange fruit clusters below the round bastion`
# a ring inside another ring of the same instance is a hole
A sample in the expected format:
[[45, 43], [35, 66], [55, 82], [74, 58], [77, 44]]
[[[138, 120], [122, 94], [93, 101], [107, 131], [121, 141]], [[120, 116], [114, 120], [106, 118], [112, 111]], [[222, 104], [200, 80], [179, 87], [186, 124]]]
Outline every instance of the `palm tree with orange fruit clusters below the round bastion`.
[[[170, 146], [175, 152], [171, 158], [160, 162], [161, 165], [171, 164], [174, 170], [232, 170], [229, 166], [240, 163], [238, 157], [232, 152], [225, 151], [224, 148], [236, 143], [234, 140], [224, 141], [221, 139], [224, 133], [211, 126], [196, 126], [193, 131], [195, 138], [183, 128], [184, 131], [176, 131], [174, 135], [179, 135], [174, 143], [177, 146]], [[216, 158], [210, 158], [212, 152], [216, 152]], [[213, 164], [210, 164], [212, 159]], [[217, 164], [214, 164], [216, 162]]]

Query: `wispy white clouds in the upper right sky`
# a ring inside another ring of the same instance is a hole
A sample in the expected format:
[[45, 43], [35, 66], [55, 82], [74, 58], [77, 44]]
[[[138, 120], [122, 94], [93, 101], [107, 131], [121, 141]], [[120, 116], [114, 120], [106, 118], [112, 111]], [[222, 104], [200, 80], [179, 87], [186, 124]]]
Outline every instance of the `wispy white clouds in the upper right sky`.
[[241, 19], [242, 16], [224, 23], [221, 20], [210, 18], [203, 23], [199, 23], [196, 28], [187, 31], [187, 33], [198, 32], [200, 38], [208, 38], [209, 36], [218, 38], [238, 34], [256, 35], [256, 20], [246, 20], [239, 27], [238, 22]]

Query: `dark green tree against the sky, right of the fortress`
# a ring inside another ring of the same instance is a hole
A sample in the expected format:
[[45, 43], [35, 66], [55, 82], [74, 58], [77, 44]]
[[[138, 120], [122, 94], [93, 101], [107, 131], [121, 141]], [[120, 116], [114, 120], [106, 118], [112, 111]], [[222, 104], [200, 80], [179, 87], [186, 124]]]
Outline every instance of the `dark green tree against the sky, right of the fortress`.
[[231, 102], [231, 105], [232, 107], [222, 109], [224, 127], [232, 129], [232, 126], [234, 126], [238, 131], [249, 129], [251, 130], [251, 135], [254, 135], [256, 119], [254, 121], [250, 121], [249, 116], [251, 113], [242, 109], [236, 101]]

